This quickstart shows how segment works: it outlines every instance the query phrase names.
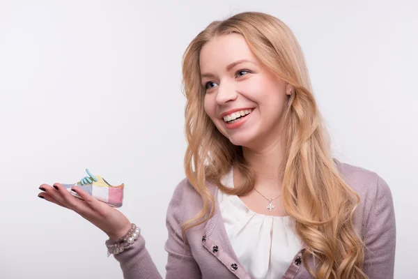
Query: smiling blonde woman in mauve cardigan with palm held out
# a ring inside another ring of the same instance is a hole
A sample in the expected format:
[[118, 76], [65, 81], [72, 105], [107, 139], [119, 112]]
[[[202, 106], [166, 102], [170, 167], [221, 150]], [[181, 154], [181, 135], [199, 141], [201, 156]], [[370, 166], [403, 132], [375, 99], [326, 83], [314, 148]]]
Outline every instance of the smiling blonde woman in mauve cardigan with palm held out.
[[[167, 211], [167, 278], [393, 278], [389, 187], [332, 159], [283, 22], [264, 13], [212, 22], [187, 47], [183, 81], [187, 177]], [[54, 186], [40, 196], [102, 229], [125, 278], [161, 277], [122, 213]]]

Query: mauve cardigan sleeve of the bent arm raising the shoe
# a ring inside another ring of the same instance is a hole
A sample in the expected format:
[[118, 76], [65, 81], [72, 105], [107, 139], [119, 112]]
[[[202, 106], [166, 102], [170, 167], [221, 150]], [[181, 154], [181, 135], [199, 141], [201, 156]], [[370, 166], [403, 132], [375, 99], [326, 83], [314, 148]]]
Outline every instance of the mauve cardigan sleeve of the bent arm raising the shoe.
[[[180, 211], [183, 206], [183, 191], [186, 183], [184, 180], [178, 184], [167, 209], [166, 225], [169, 237], [164, 246], [169, 254], [166, 265], [167, 279], [201, 278], [199, 266], [196, 264], [189, 246], [183, 243], [180, 228], [182, 222]], [[146, 250], [143, 236], [139, 236], [137, 241], [132, 244], [132, 248], [114, 255], [114, 257], [121, 264], [124, 279], [162, 278], [148, 250]]]

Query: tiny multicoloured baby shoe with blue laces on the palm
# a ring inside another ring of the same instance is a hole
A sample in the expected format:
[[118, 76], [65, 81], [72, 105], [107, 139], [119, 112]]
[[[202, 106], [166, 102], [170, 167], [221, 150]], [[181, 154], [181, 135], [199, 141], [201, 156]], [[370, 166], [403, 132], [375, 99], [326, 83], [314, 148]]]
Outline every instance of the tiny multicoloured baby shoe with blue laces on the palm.
[[96, 199], [109, 204], [112, 207], [121, 207], [123, 202], [123, 188], [122, 183], [119, 186], [111, 186], [101, 176], [91, 174], [86, 169], [88, 176], [74, 184], [62, 184], [73, 196], [77, 199], [82, 199], [77, 193], [71, 190], [72, 186], [78, 186]]

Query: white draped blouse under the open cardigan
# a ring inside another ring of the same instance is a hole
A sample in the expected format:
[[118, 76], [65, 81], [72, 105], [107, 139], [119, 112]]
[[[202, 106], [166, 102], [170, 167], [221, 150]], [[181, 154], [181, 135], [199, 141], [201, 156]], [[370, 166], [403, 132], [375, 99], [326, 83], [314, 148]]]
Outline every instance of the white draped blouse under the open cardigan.
[[[232, 168], [222, 183], [234, 187]], [[226, 195], [220, 190], [217, 199], [233, 250], [249, 276], [254, 279], [284, 276], [302, 248], [293, 219], [255, 213], [237, 195]]]

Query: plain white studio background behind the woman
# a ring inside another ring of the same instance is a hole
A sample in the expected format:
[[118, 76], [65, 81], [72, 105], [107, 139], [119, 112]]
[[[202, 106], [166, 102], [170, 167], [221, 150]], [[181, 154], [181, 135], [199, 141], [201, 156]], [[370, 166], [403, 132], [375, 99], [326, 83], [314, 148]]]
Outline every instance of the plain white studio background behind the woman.
[[[338, 2], [338, 3], [337, 3]], [[396, 278], [416, 278], [417, 1], [1, 1], [0, 278], [122, 278], [106, 235], [37, 197], [86, 175], [125, 183], [164, 276], [165, 213], [184, 178], [181, 56], [212, 20], [279, 17], [306, 55], [343, 162], [396, 209]]]

